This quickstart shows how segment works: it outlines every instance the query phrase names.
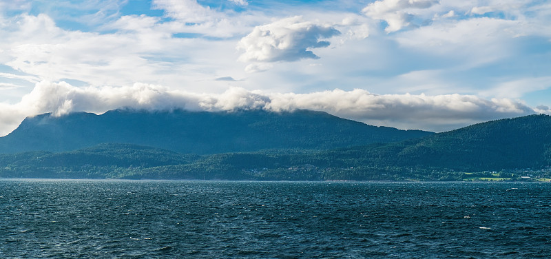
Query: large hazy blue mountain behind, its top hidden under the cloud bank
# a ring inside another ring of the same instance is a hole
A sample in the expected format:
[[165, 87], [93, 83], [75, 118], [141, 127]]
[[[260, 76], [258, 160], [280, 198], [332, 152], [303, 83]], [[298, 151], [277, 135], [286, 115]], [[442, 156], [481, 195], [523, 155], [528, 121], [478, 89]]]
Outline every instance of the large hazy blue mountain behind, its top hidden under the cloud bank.
[[389, 143], [432, 132], [375, 127], [325, 112], [147, 112], [113, 110], [96, 115], [41, 114], [0, 138], [0, 154], [66, 152], [101, 143], [125, 143], [187, 154], [262, 149], [333, 149]]

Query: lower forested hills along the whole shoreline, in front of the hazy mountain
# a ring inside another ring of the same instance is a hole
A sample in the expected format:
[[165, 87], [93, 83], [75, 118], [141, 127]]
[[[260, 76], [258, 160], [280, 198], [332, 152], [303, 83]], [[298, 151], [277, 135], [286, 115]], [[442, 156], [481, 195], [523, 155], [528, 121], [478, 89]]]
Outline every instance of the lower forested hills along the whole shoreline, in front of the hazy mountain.
[[0, 177], [526, 180], [527, 175], [551, 178], [550, 165], [551, 116], [532, 115], [424, 138], [331, 150], [272, 149], [199, 156], [138, 145], [101, 144], [71, 152], [0, 154]]

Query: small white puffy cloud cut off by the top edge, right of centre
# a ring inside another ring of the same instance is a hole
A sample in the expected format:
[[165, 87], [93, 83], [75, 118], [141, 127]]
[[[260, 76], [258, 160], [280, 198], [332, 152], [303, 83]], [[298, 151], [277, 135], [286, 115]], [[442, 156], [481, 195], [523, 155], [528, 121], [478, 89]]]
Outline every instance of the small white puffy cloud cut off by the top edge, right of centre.
[[411, 10], [430, 8], [438, 0], [380, 0], [370, 3], [362, 10], [368, 17], [384, 20], [387, 23], [386, 32], [396, 32], [413, 20]]

